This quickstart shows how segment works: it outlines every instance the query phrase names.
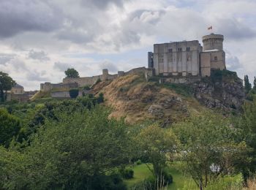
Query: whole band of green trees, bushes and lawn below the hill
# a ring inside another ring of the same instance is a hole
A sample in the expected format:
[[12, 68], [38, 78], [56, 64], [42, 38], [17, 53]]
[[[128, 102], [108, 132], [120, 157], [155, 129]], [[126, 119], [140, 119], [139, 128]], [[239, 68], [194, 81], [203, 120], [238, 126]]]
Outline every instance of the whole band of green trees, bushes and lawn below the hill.
[[166, 128], [110, 118], [102, 102], [1, 104], [0, 189], [255, 187], [256, 99], [236, 118], [192, 112]]

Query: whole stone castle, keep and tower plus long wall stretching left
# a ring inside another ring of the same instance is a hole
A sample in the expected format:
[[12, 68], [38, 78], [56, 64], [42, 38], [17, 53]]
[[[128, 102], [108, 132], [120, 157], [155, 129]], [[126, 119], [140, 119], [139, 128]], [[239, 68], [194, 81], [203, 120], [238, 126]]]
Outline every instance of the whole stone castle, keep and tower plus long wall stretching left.
[[102, 75], [65, 77], [62, 83], [42, 83], [40, 91], [51, 91], [52, 97], [69, 97], [70, 88], [81, 89], [93, 86], [98, 80], [113, 80], [132, 73], [143, 74], [146, 80], [155, 75], [169, 83], [194, 83], [202, 77], [210, 76], [213, 69], [226, 69], [223, 41], [223, 35], [209, 34], [203, 37], [203, 47], [198, 40], [155, 44], [154, 53], [148, 52], [148, 68], [118, 71], [115, 75], [103, 69]]

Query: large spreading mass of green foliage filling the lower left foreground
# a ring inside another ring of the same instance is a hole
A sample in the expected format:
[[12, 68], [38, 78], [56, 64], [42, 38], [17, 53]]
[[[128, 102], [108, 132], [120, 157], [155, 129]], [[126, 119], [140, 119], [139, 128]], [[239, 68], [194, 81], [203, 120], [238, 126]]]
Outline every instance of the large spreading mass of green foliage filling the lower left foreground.
[[103, 107], [57, 112], [29, 144], [14, 147], [20, 151], [0, 149], [0, 189], [125, 189], [120, 177], [106, 175], [132, 155], [127, 126], [109, 113]]

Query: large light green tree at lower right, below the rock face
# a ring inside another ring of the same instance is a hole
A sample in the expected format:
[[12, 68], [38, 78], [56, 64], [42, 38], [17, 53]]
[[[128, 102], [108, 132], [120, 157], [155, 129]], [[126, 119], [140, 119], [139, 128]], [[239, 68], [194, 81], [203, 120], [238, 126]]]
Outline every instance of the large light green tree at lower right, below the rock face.
[[181, 140], [181, 160], [200, 189], [222, 174], [232, 174], [239, 161], [248, 160], [246, 143], [236, 142], [236, 130], [221, 115], [194, 115], [174, 130]]

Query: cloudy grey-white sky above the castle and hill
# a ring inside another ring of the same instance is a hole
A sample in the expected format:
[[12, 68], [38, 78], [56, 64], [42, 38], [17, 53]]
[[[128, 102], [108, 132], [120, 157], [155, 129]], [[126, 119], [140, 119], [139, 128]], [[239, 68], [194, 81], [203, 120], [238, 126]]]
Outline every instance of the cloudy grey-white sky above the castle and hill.
[[155, 43], [214, 32], [225, 37], [227, 69], [252, 81], [255, 10], [256, 0], [0, 0], [0, 71], [38, 90], [67, 68], [81, 77], [128, 71], [147, 66]]

